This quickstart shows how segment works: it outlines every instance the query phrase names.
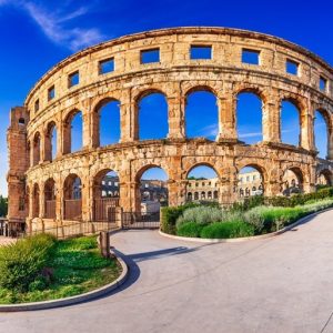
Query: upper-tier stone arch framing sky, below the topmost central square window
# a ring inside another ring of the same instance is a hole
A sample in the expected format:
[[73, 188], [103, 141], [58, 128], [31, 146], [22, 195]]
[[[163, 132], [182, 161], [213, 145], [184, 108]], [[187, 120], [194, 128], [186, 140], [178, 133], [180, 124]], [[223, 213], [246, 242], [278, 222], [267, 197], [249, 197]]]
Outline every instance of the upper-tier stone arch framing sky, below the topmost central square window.
[[[191, 101], [192, 99], [192, 101]], [[194, 99], [194, 102], [193, 102]], [[206, 100], [203, 108], [205, 117], [198, 125], [198, 112], [202, 100]], [[216, 140], [219, 134], [219, 113], [220, 103], [216, 91], [206, 84], [193, 85], [184, 94], [184, 123], [186, 138], [205, 138]], [[209, 111], [209, 112], [206, 112]]]

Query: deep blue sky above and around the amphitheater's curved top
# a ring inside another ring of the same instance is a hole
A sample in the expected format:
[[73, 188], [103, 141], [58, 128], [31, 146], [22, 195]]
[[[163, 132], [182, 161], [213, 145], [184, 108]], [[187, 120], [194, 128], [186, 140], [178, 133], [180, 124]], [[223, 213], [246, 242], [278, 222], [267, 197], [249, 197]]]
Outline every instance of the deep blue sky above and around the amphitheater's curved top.
[[[7, 193], [6, 129], [10, 108], [21, 105], [34, 82], [73, 52], [150, 29], [220, 26], [287, 39], [332, 64], [332, 10], [330, 1], [0, 0], [0, 193]], [[211, 102], [209, 97], [206, 102]], [[211, 119], [205, 121], [206, 131], [213, 135]], [[251, 123], [250, 128], [251, 133], [260, 132]], [[255, 135], [246, 139], [251, 138], [258, 139]]]

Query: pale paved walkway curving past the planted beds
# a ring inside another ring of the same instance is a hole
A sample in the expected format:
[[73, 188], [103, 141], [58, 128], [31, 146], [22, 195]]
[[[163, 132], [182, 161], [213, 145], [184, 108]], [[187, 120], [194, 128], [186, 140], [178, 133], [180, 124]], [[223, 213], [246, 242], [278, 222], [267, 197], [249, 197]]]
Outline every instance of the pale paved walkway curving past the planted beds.
[[155, 231], [111, 241], [131, 259], [121, 291], [0, 314], [0, 332], [333, 332], [333, 211], [261, 241], [205, 245]]

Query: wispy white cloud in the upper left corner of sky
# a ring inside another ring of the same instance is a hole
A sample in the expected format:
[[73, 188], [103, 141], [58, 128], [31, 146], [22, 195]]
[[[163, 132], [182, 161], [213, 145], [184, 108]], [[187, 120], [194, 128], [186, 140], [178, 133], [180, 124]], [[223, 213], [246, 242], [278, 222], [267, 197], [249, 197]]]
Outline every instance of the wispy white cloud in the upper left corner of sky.
[[49, 40], [72, 51], [95, 44], [104, 39], [97, 28], [72, 28], [73, 20], [89, 12], [88, 7], [71, 11], [51, 10], [32, 1], [0, 0], [0, 6], [9, 3], [26, 11]]

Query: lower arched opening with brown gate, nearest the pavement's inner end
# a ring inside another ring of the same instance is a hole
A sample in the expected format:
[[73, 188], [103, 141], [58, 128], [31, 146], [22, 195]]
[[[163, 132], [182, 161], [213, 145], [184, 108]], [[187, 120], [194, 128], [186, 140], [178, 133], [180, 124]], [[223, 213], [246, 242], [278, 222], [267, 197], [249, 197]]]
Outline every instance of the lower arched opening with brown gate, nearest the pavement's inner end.
[[100, 171], [93, 181], [94, 221], [115, 222], [115, 206], [119, 206], [120, 183], [118, 173]]

